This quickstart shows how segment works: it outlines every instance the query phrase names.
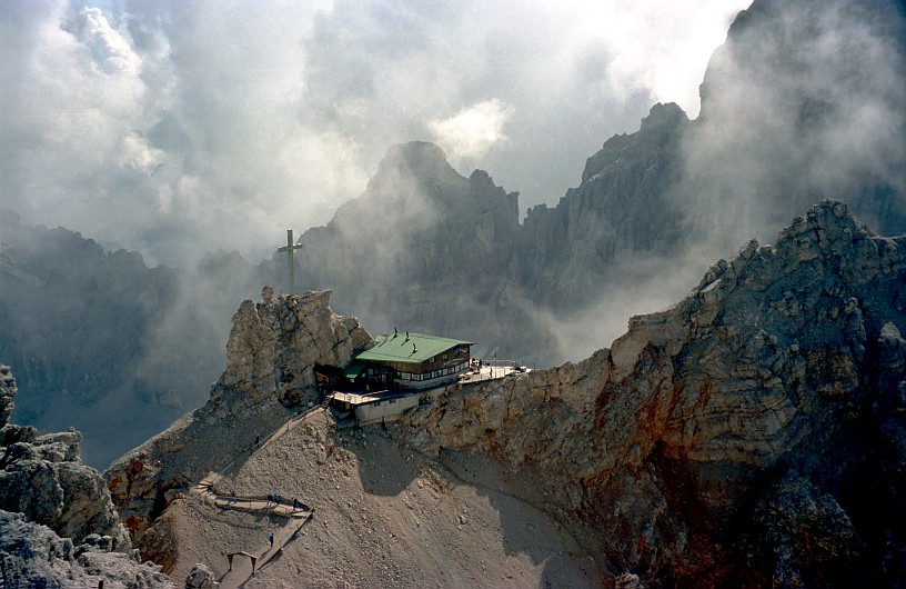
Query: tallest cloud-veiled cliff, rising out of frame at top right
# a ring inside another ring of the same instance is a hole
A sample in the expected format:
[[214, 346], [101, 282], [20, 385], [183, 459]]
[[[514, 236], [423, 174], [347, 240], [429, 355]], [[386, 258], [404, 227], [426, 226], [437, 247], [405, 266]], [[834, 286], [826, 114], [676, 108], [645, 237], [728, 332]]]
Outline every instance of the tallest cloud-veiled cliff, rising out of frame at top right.
[[673, 189], [696, 206], [689, 224], [755, 237], [748, 228], [781, 227], [822, 194], [882, 234], [905, 232], [905, 30], [899, 0], [756, 0], [741, 12], [683, 139]]

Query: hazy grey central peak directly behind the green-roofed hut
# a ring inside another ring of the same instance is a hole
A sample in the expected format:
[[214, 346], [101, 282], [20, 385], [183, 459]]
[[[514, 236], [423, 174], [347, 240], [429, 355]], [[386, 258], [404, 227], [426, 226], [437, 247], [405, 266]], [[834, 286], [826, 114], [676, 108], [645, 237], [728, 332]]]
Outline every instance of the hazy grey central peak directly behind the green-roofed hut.
[[[507, 357], [553, 347], [511, 280], [517, 198], [486, 172], [460, 176], [434, 144], [394, 146], [360, 198], [300, 238], [296, 276], [333, 289], [338, 308], [384, 331], [470, 339]], [[514, 323], [520, 341], [509, 335]]]

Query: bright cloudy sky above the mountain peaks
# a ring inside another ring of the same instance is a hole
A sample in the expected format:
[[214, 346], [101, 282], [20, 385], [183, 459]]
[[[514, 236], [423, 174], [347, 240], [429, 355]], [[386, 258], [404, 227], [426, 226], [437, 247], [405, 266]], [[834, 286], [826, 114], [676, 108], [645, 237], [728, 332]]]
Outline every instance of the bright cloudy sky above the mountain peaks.
[[524, 212], [653, 103], [697, 116], [749, 3], [4, 0], [0, 208], [149, 263], [256, 262], [431, 140]]

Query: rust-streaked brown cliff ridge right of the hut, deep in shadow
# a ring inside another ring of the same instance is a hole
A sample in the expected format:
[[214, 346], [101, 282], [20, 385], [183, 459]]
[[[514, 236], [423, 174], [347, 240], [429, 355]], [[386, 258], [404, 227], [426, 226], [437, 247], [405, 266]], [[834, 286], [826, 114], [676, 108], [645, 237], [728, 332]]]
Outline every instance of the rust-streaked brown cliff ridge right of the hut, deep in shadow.
[[650, 587], [889, 583], [906, 571], [904, 248], [823, 202], [610, 350], [464, 388], [404, 437], [497, 457]]

